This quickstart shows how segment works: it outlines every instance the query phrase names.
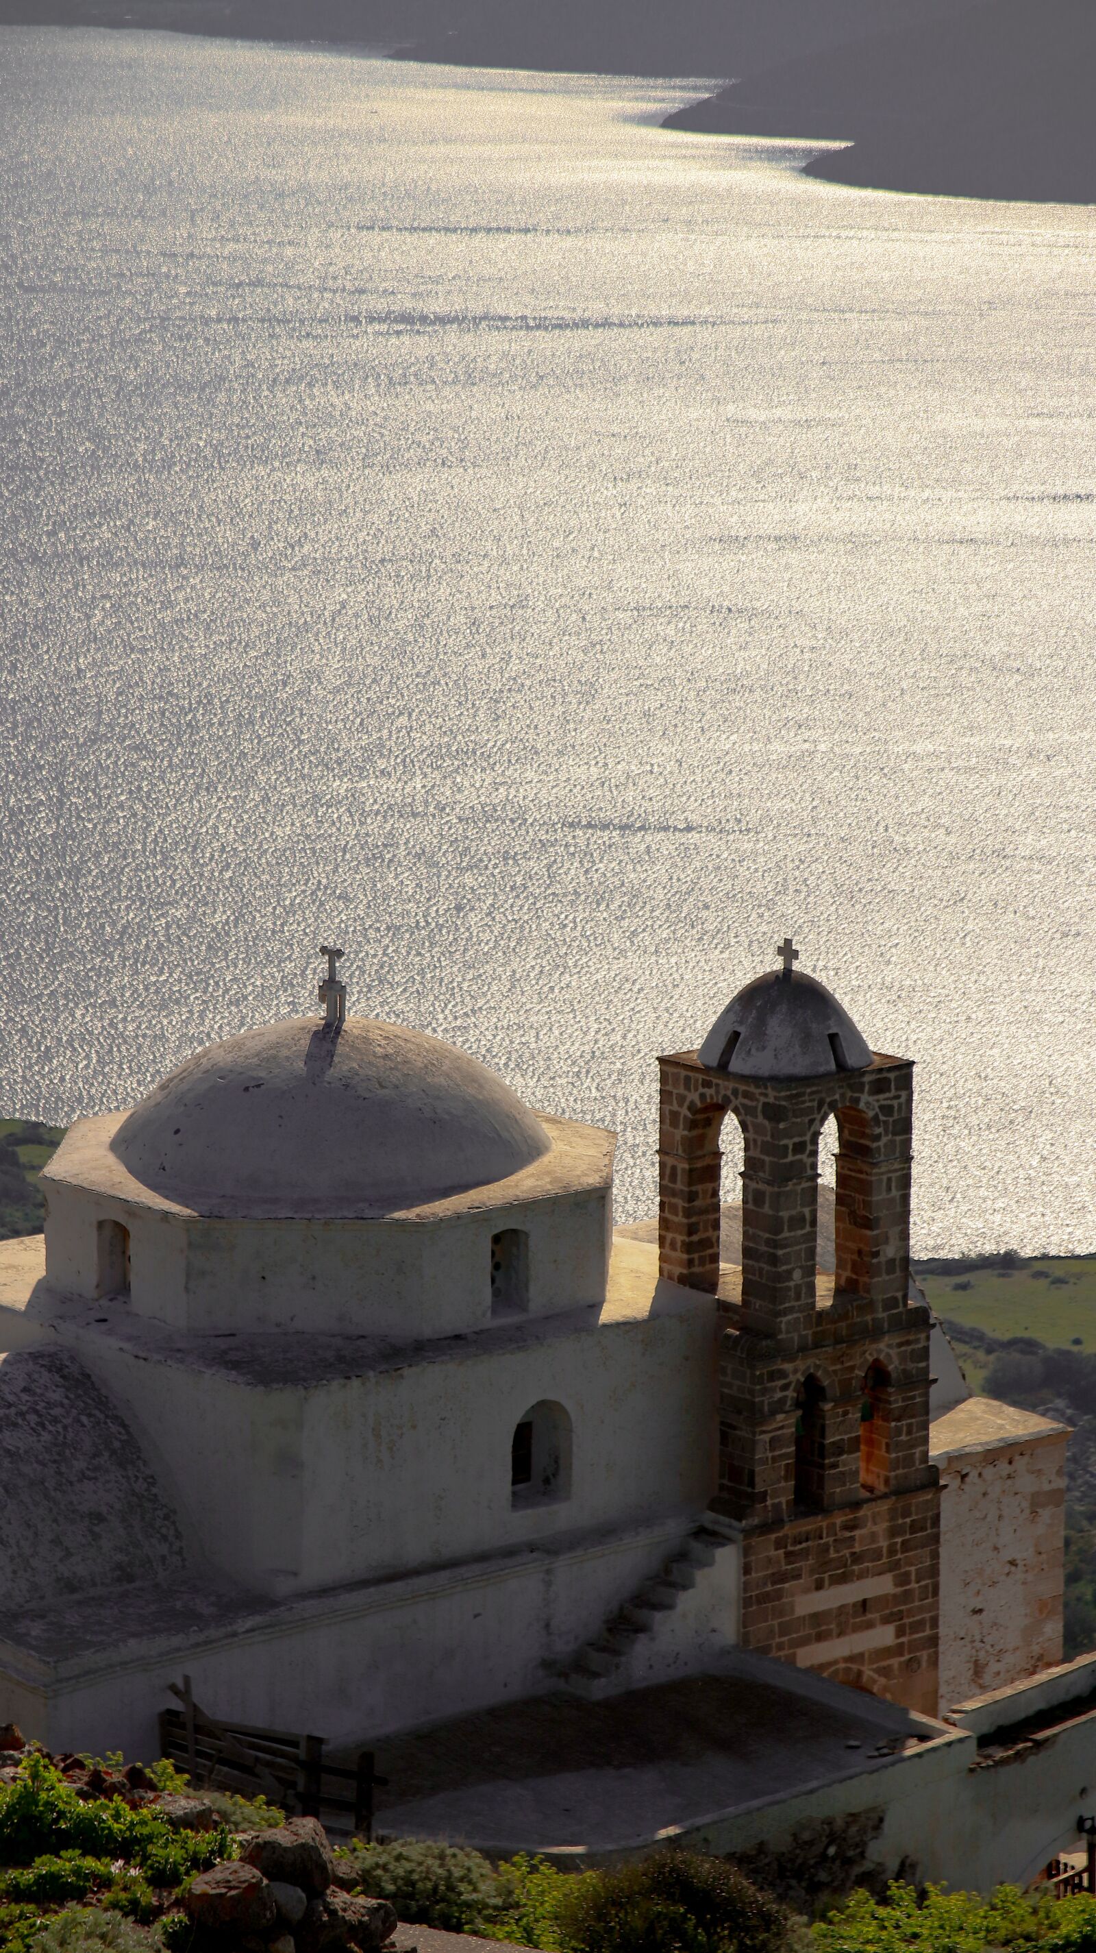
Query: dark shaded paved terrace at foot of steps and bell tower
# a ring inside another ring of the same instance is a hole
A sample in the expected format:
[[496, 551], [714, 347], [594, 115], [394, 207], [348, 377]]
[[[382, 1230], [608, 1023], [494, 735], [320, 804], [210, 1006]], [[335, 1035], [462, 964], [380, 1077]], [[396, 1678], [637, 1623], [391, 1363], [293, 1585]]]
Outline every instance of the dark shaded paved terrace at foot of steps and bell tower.
[[893, 1767], [938, 1723], [764, 1656], [582, 1701], [485, 1709], [377, 1746], [377, 1836], [508, 1855], [611, 1853]]

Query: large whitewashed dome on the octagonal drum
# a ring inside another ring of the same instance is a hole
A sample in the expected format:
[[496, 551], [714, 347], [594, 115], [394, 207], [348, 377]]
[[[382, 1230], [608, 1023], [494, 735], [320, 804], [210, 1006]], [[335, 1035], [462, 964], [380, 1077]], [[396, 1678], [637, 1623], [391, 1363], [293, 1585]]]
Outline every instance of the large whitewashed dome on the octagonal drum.
[[373, 1018], [289, 1018], [209, 1045], [111, 1139], [141, 1185], [184, 1207], [303, 1219], [465, 1193], [549, 1146], [486, 1064]]

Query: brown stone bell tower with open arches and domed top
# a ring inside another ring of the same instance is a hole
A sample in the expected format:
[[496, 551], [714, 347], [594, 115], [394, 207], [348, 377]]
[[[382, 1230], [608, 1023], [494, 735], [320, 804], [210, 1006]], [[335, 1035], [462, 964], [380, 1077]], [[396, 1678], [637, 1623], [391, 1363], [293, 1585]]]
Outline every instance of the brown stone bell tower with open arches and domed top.
[[[748, 982], [660, 1059], [660, 1273], [719, 1297], [719, 1492], [742, 1527], [742, 1644], [936, 1713], [940, 1486], [930, 1314], [908, 1299], [912, 1064], [813, 976]], [[721, 1266], [723, 1119], [744, 1141], [742, 1269]], [[838, 1127], [836, 1271], [817, 1269]]]

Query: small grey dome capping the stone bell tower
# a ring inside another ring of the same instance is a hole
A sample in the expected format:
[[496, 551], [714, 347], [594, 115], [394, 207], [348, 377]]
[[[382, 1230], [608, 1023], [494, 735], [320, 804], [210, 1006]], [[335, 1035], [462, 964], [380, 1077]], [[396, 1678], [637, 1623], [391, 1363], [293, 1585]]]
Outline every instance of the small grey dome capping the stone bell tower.
[[815, 976], [754, 976], [719, 1014], [699, 1062], [738, 1078], [824, 1078], [871, 1064], [856, 1023]]

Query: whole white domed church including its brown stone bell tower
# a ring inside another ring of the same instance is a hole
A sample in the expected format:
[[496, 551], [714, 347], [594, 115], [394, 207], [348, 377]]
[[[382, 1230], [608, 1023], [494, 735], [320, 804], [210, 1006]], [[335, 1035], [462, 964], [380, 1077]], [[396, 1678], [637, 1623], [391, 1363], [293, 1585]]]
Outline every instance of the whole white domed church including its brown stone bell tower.
[[[920, 1863], [949, 1877], [975, 1748], [1096, 1676], [1061, 1664], [1067, 1432], [973, 1398], [908, 1281], [908, 1060], [785, 943], [660, 1060], [660, 1217], [613, 1230], [610, 1131], [350, 1016], [324, 955], [318, 1016], [76, 1121], [45, 1236], [0, 1244], [0, 1721], [148, 1758], [186, 1672], [219, 1717], [352, 1748], [737, 1678], [875, 1719], [871, 1797], [922, 1769]], [[1071, 1742], [1092, 1769], [1053, 1810], [1032, 1777], [1033, 1869], [1096, 1785], [1088, 1721]], [[680, 1834], [860, 1808], [864, 1742], [834, 1744], [795, 1797]], [[965, 1849], [1016, 1877], [979, 1812]]]

